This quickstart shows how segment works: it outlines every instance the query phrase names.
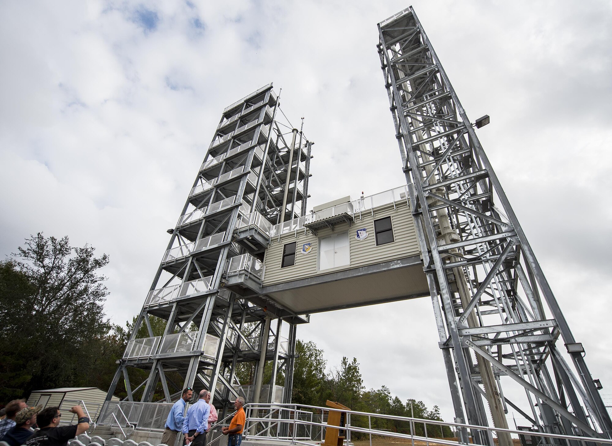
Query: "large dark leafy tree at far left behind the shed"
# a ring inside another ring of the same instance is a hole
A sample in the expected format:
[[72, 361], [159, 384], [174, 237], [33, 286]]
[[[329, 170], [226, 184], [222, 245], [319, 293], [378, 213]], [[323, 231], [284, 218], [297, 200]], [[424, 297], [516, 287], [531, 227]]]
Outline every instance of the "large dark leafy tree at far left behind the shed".
[[100, 379], [100, 364], [114, 363], [125, 337], [103, 311], [108, 291], [98, 271], [108, 255], [94, 251], [38, 233], [0, 262], [1, 400], [110, 381]]

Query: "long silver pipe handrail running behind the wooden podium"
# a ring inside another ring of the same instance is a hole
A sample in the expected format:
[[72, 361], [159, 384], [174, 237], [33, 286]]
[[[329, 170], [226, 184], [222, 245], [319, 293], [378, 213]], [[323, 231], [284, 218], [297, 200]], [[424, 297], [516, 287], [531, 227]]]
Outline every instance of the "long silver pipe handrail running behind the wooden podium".
[[[334, 409], [332, 409], [334, 410]], [[245, 439], [276, 439], [292, 444], [323, 442], [328, 425], [330, 408], [306, 404], [252, 403], [245, 406], [247, 420]], [[306, 412], [306, 413], [304, 413]], [[546, 432], [547, 426], [538, 426], [539, 431], [501, 429], [494, 426], [478, 426], [450, 423], [438, 420], [401, 417], [399, 415], [374, 414], [370, 412], [346, 411], [345, 433], [347, 444], [354, 440], [401, 439], [403, 442], [431, 445], [469, 445], [478, 442], [494, 446], [499, 433], [509, 433], [521, 440], [521, 444], [578, 444], [580, 446], [612, 445], [612, 439], [573, 436]], [[388, 440], [387, 440], [388, 441]]]

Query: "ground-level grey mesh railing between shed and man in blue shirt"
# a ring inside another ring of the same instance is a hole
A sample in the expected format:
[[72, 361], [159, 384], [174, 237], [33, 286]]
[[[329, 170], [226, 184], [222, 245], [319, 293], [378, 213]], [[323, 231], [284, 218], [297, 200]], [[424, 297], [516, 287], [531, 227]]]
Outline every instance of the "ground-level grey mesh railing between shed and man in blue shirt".
[[[127, 428], [124, 435], [138, 430], [162, 432], [172, 403], [140, 403], [136, 401], [106, 401], [98, 425]], [[121, 422], [119, 422], [121, 420]]]

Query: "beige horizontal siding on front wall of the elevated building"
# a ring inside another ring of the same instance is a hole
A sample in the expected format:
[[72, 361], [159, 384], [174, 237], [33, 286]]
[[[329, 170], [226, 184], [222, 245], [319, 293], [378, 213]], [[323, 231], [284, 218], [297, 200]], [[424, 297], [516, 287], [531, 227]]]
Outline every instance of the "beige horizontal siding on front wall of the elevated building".
[[[313, 235], [310, 231], [302, 229], [297, 232], [297, 237], [295, 233], [288, 233], [282, 235], [280, 241], [278, 241], [278, 237], [272, 238], [271, 245], [266, 250], [266, 256], [264, 257], [266, 269], [263, 286], [419, 255], [419, 244], [408, 204], [398, 202], [395, 203], [395, 206], [397, 209], [394, 209], [392, 204], [376, 208], [374, 216], [371, 215], [370, 211], [364, 212], [361, 219], [359, 215], [356, 216], [351, 227], [348, 223], [337, 224], [334, 232], [330, 228], [324, 228], [320, 229], [317, 235]], [[376, 246], [374, 221], [385, 217], [391, 218], [394, 242]], [[367, 228], [368, 230], [368, 236], [365, 240], [355, 238], [357, 229], [361, 228]], [[350, 265], [318, 271], [319, 238], [347, 231], [351, 250]], [[280, 268], [283, 246], [294, 241], [296, 242], [295, 265]], [[300, 252], [304, 243], [312, 243], [312, 250], [308, 254], [301, 254]]]

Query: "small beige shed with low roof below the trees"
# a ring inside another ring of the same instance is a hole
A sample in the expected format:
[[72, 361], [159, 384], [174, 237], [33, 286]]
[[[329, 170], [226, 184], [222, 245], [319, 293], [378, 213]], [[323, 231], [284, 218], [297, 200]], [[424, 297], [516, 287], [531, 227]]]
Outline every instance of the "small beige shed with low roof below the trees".
[[[106, 392], [97, 387], [61, 387], [61, 389], [34, 390], [28, 398], [28, 406], [39, 404], [43, 408], [58, 406], [62, 413], [66, 412], [66, 415], [62, 416], [62, 423], [73, 423], [76, 422], [76, 417], [67, 413], [72, 406], [84, 405], [89, 416], [95, 420], [100, 415], [105, 399]], [[113, 396], [113, 401], [119, 401], [119, 398]]]

